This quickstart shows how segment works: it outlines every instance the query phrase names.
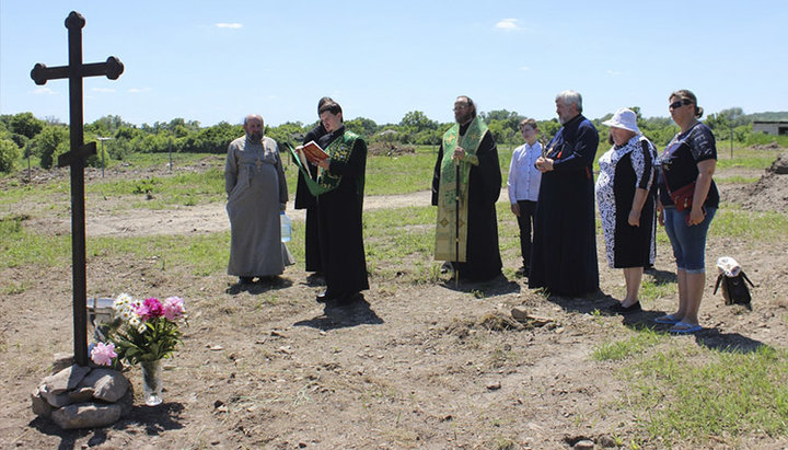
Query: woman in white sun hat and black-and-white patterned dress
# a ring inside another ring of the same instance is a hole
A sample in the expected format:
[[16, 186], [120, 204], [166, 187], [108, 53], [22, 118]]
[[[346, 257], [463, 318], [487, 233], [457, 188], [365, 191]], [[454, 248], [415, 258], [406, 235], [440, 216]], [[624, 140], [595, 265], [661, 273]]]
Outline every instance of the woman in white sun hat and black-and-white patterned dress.
[[654, 244], [653, 162], [657, 149], [642, 136], [637, 115], [631, 109], [616, 111], [610, 120], [613, 148], [600, 159], [596, 178], [607, 264], [624, 269], [626, 297], [613, 310], [621, 313], [640, 311], [638, 292], [644, 267], [657, 255]]

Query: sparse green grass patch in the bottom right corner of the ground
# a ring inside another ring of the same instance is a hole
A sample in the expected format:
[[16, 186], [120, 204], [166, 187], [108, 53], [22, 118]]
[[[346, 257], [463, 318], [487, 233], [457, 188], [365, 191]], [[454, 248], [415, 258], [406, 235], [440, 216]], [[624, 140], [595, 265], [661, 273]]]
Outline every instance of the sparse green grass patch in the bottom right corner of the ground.
[[[788, 355], [699, 348], [657, 353], [626, 370], [641, 427], [667, 443], [788, 431]], [[731, 389], [737, 386], [737, 389]]]

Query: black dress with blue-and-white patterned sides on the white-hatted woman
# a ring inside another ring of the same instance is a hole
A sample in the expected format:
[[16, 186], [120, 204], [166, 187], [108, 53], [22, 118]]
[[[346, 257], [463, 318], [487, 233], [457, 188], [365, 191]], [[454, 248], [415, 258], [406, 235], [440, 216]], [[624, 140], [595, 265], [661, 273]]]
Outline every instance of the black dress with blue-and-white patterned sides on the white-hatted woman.
[[[645, 267], [657, 256], [654, 240], [654, 169], [657, 150], [648, 139], [634, 136], [600, 159], [596, 203], [602, 219], [607, 264], [612, 268]], [[639, 227], [628, 222], [635, 192], [648, 191]]]

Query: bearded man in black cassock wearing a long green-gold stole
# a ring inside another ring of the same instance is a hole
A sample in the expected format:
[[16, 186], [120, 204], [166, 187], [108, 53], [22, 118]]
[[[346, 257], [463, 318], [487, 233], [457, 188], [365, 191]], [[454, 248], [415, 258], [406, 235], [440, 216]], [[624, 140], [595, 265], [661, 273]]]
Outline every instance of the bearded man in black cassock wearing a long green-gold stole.
[[495, 207], [501, 191], [498, 149], [467, 96], [456, 99], [454, 119], [441, 141], [432, 176], [432, 205], [438, 206], [436, 259], [451, 262], [459, 279], [487, 281], [500, 275], [502, 266]]

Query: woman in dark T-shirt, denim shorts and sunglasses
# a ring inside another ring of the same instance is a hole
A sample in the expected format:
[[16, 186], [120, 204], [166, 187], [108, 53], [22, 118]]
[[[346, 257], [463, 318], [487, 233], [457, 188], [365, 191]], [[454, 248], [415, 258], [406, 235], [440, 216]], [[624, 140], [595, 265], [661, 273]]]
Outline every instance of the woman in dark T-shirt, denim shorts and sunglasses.
[[[719, 193], [711, 176], [717, 166], [717, 147], [711, 130], [698, 119], [703, 108], [687, 90], [673, 92], [669, 111], [681, 131], [657, 159], [660, 168], [659, 222], [665, 228], [673, 246], [679, 279], [679, 310], [657, 318], [658, 323], [673, 325], [671, 333], [695, 333], [698, 310], [706, 285], [706, 234], [719, 206]], [[695, 185], [692, 206], [684, 208], [671, 199], [671, 193]]]

